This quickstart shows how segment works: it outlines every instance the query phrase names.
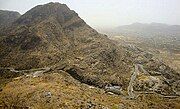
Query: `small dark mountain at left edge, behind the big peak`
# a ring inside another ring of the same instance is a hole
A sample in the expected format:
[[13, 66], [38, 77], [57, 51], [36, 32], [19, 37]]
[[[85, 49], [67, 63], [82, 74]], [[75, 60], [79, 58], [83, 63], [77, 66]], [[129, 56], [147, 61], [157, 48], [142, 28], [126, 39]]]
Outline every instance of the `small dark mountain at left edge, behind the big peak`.
[[15, 11], [0, 10], [0, 29], [9, 26], [21, 16]]

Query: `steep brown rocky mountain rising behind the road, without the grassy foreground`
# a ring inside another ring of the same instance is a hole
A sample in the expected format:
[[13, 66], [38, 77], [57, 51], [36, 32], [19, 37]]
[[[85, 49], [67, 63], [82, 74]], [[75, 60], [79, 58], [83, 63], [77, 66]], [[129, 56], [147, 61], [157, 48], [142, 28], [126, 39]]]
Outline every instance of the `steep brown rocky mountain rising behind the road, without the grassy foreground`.
[[53, 66], [98, 87], [127, 82], [122, 78], [129, 72], [122, 61], [125, 50], [88, 26], [65, 4], [36, 6], [1, 35], [1, 67]]

